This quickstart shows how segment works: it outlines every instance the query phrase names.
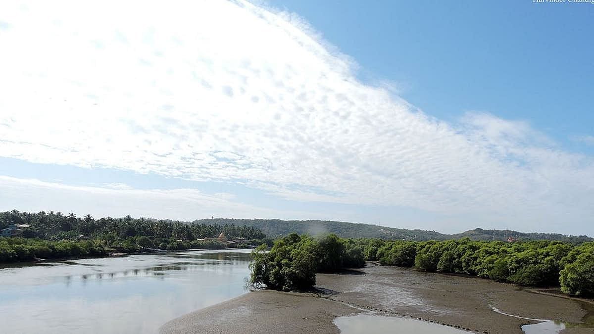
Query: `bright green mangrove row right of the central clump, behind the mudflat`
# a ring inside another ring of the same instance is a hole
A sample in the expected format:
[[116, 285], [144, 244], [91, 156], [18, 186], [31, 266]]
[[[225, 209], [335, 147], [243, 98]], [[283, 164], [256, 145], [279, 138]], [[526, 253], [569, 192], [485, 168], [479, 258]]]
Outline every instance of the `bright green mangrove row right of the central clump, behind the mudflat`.
[[459, 273], [525, 286], [561, 286], [594, 295], [594, 242], [359, 240], [366, 260], [440, 273]]

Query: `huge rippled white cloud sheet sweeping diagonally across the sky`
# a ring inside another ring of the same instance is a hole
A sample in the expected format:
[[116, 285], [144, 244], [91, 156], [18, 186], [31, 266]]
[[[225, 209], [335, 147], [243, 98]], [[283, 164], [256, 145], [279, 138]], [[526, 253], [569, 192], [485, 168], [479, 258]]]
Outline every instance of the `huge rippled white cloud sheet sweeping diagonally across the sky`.
[[594, 214], [592, 157], [525, 121], [432, 119], [356, 80], [295, 15], [242, 1], [2, 7], [0, 156], [502, 222]]

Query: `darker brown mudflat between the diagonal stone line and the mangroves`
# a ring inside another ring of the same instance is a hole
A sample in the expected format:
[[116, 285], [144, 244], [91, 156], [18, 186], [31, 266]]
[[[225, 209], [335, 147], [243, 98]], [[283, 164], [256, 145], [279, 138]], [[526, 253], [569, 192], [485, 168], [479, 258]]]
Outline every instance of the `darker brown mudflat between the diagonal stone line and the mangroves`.
[[[365, 275], [317, 275], [317, 285], [338, 292], [327, 296], [383, 313], [409, 316], [480, 333], [522, 333], [532, 320], [514, 316], [580, 323], [587, 305], [535, 294], [507, 283], [459, 275], [418, 272], [410, 268], [375, 266]], [[592, 328], [568, 328], [563, 333], [594, 333]]]

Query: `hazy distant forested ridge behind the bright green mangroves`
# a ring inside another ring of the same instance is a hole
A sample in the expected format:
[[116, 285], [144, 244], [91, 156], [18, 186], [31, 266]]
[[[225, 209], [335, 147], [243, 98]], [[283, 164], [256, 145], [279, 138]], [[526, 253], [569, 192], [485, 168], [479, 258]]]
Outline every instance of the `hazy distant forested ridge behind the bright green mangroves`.
[[205, 224], [235, 224], [236, 226], [252, 226], [261, 229], [268, 237], [281, 237], [290, 232], [298, 234], [323, 234], [334, 233], [343, 238], [383, 238], [392, 240], [450, 240], [469, 237], [471, 240], [501, 240], [507, 241], [509, 237], [518, 240], [557, 240], [565, 242], [594, 241], [586, 235], [567, 236], [563, 234], [548, 233], [523, 233], [498, 229], [472, 229], [459, 234], [441, 234], [435, 231], [421, 229], [389, 228], [386, 226], [334, 222], [331, 220], [280, 220], [280, 219], [199, 219], [195, 223]]

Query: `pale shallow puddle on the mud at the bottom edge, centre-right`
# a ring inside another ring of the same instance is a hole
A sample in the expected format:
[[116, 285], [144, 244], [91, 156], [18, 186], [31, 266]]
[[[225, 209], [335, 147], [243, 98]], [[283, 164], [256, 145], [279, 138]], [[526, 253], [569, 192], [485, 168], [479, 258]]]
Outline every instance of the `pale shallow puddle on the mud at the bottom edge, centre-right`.
[[418, 333], [460, 334], [465, 330], [410, 318], [358, 314], [334, 319], [341, 333]]

